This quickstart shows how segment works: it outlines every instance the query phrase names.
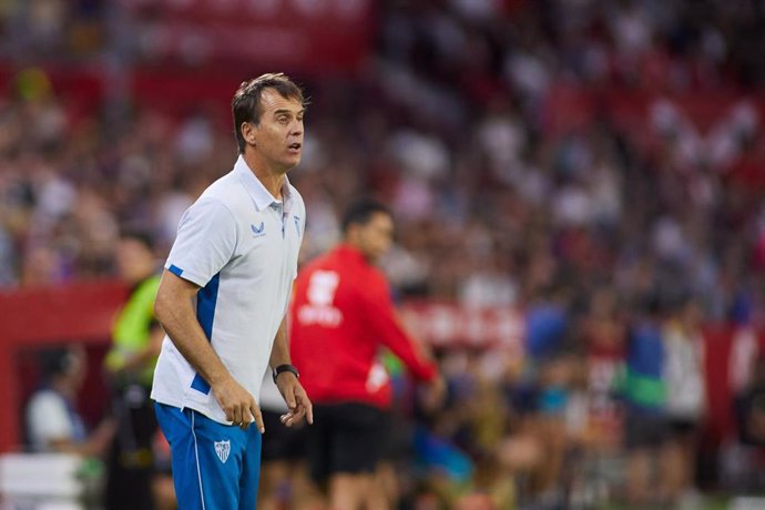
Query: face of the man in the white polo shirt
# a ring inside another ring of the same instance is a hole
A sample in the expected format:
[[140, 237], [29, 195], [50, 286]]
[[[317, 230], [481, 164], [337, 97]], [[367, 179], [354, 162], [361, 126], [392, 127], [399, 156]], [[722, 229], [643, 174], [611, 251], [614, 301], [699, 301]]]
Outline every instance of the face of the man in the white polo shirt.
[[305, 109], [296, 99], [264, 89], [261, 112], [261, 123], [253, 126], [255, 151], [273, 170], [286, 173], [300, 163]]

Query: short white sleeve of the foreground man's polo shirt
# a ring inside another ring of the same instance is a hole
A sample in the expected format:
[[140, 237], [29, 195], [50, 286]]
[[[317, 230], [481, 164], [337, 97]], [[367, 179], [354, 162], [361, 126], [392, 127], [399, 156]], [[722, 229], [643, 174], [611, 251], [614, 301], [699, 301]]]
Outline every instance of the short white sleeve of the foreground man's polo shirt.
[[165, 268], [204, 287], [233, 257], [236, 237], [228, 207], [216, 198], [201, 198], [183, 214]]

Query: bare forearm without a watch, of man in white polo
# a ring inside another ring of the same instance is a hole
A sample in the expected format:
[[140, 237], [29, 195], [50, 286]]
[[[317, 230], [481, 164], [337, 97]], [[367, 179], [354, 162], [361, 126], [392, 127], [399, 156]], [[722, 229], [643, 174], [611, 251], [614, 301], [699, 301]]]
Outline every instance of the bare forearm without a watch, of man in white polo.
[[197, 285], [165, 271], [156, 293], [154, 315], [183, 357], [210, 384], [226, 419], [243, 429], [254, 419], [263, 432], [255, 398], [223, 365], [196, 319], [193, 299], [198, 290]]

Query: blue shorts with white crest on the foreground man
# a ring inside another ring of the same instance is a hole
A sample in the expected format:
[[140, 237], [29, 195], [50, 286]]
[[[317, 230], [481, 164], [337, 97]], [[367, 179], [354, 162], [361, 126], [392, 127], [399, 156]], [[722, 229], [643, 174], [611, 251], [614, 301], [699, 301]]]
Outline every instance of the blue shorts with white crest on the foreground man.
[[177, 506], [253, 510], [261, 476], [261, 431], [218, 424], [193, 409], [154, 404], [170, 442]]

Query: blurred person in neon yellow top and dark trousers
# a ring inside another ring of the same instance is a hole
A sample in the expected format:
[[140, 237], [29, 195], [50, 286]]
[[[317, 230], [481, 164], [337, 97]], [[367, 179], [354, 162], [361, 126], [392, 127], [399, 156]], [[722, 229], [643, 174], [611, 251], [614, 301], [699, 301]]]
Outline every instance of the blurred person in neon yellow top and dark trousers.
[[124, 232], [115, 256], [131, 294], [116, 317], [105, 357], [118, 431], [109, 455], [104, 503], [108, 510], [155, 510], [162, 507], [155, 497], [153, 453], [159, 429], [149, 394], [163, 337], [153, 313], [160, 273], [146, 233]]

